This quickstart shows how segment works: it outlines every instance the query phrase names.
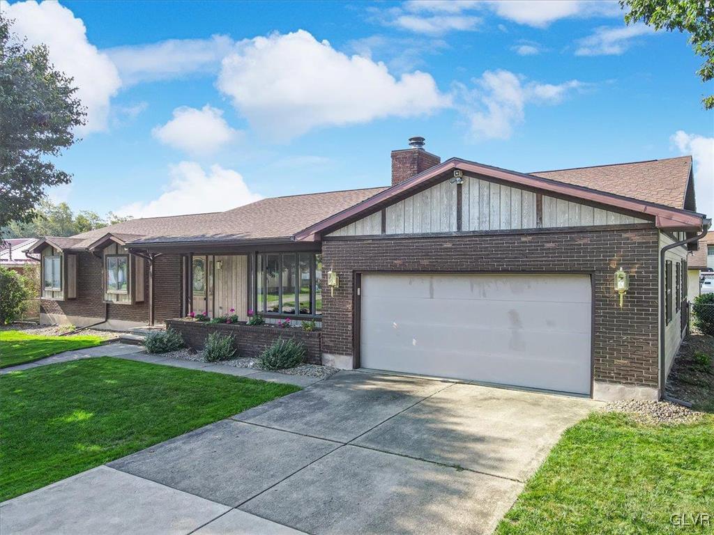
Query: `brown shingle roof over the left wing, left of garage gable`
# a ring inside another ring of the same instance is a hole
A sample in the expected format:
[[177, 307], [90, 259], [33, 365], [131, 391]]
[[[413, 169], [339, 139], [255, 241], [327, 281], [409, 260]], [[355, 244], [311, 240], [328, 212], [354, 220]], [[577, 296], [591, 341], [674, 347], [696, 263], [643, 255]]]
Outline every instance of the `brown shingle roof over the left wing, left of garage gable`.
[[226, 212], [132, 219], [90, 230], [80, 238], [87, 247], [106, 235], [141, 235], [134, 243], [169, 243], [198, 240], [251, 240], [290, 238], [334, 213], [360, 203], [386, 188], [331, 191], [258, 200]]

